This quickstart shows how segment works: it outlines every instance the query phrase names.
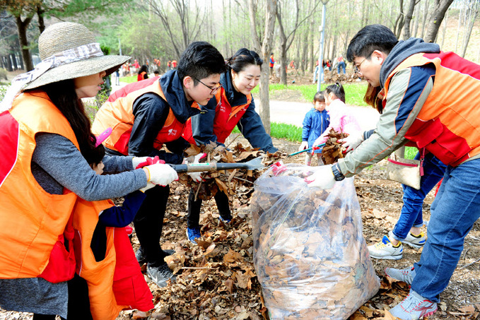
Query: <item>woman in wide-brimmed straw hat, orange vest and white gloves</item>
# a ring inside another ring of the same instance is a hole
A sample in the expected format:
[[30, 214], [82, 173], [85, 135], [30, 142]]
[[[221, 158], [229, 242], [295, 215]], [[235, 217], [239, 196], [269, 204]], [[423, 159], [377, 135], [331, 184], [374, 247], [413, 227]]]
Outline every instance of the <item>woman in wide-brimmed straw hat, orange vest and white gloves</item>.
[[132, 157], [105, 157], [104, 171], [115, 174], [95, 174], [82, 155], [96, 139], [81, 98], [95, 96], [103, 76], [129, 57], [104, 56], [78, 23], [50, 26], [38, 48], [42, 62], [13, 79], [0, 105], [0, 307], [33, 312], [35, 320], [92, 319], [94, 290], [74, 277], [79, 267], [88, 274], [74, 257], [88, 246], [72, 245], [74, 233], [91, 236], [82, 227], [98, 220], [98, 211], [86, 218], [88, 201], [103, 210], [103, 199], [147, 182], [169, 184], [177, 174], [161, 164], [134, 170], [145, 159]]

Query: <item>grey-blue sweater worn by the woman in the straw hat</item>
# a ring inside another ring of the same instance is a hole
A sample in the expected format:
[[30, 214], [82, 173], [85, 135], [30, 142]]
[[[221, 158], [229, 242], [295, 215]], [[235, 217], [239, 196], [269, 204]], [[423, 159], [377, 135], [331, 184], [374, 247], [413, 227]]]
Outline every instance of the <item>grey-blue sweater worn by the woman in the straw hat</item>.
[[[49, 194], [64, 187], [87, 201], [124, 196], [146, 186], [144, 170], [133, 170], [133, 157], [105, 156], [104, 172], [98, 175], [71, 141], [57, 134], [39, 134], [32, 157], [32, 172]], [[117, 173], [118, 174], [112, 174]], [[66, 213], [67, 214], [67, 213]], [[18, 312], [58, 314], [66, 318], [66, 282], [42, 278], [0, 279], [0, 307]]]

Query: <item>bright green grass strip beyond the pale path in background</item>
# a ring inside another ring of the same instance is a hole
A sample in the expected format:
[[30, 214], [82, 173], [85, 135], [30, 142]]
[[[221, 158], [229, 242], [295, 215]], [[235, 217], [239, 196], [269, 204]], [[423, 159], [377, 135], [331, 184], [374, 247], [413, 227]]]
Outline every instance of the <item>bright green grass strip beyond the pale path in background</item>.
[[[320, 85], [320, 90], [325, 90], [328, 85], [331, 83], [322, 83]], [[368, 107], [368, 105], [363, 101], [363, 96], [367, 90], [368, 84], [366, 82], [352, 82], [352, 83], [342, 83], [345, 90], [345, 102], [347, 105], [358, 105], [362, 107]], [[313, 96], [317, 93], [317, 85], [283, 85], [280, 83], [271, 83], [269, 85], [270, 94], [274, 94], [276, 91], [280, 90], [297, 90], [302, 93], [305, 101], [312, 101]], [[252, 90], [254, 95], [258, 95], [259, 87], [257, 86]]]

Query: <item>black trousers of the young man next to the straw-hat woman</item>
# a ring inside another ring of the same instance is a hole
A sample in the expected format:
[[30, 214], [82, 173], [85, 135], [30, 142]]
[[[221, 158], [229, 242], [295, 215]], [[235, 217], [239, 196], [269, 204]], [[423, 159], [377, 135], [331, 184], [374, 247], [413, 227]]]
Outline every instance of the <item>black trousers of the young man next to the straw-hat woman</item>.
[[148, 263], [157, 265], [164, 263], [165, 254], [160, 247], [160, 236], [163, 229], [163, 218], [167, 210], [170, 194], [169, 186], [154, 186], [146, 192], [146, 198], [134, 219], [136, 237], [144, 251]]

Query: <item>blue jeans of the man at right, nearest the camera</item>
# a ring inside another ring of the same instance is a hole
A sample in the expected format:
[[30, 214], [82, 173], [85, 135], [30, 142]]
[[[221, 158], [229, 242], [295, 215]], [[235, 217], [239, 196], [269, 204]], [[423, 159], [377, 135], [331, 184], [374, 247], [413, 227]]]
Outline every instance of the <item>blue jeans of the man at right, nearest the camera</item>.
[[480, 217], [480, 159], [447, 167], [431, 206], [427, 242], [411, 289], [440, 302], [463, 250], [464, 239]]

